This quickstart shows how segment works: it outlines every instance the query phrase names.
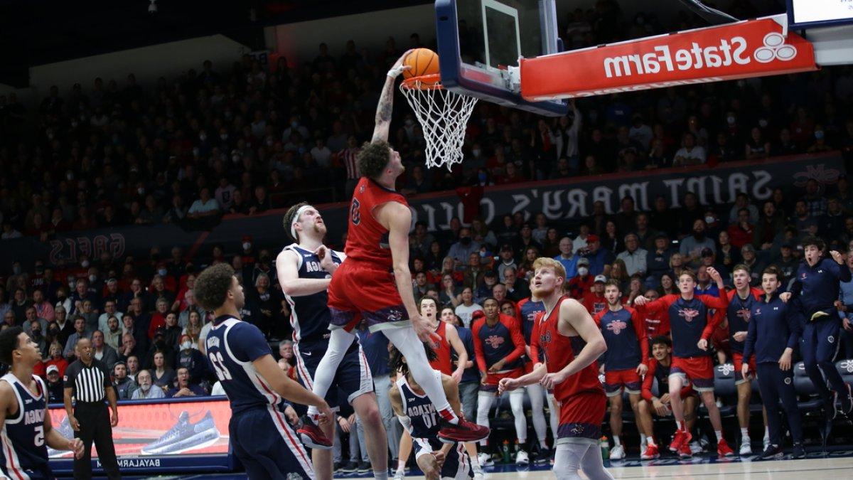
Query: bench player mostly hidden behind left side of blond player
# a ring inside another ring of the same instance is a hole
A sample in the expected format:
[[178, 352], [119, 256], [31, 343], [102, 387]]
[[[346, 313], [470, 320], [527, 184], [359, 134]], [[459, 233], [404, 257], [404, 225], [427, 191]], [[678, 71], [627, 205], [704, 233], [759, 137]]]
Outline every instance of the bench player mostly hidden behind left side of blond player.
[[[531, 277], [530, 284], [532, 285], [533, 278]], [[528, 285], [529, 287], [531, 285]], [[521, 333], [525, 337], [525, 373], [533, 372], [533, 367], [536, 361], [531, 355], [531, 342], [533, 337], [533, 327], [536, 325], [536, 319], [539, 313], [545, 311], [545, 306], [542, 299], [532, 294], [531, 296], [521, 299], [516, 305], [516, 315], [521, 319]], [[536, 431], [537, 440], [539, 441], [539, 450], [537, 454], [537, 463], [547, 462], [551, 459], [552, 454], [548, 449], [548, 424], [545, 422], [545, 389], [539, 383], [533, 383], [525, 387], [527, 397], [531, 401], [531, 417], [533, 418], [533, 430]], [[532, 446], [528, 447], [531, 451]]]

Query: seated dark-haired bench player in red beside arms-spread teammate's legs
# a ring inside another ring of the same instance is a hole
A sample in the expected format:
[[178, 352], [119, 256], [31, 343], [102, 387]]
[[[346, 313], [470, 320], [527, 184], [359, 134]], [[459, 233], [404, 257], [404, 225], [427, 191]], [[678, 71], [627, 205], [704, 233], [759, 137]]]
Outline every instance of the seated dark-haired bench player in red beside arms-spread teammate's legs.
[[[672, 341], [669, 337], [654, 337], [652, 339], [652, 359], [648, 361], [648, 371], [642, 380], [641, 401], [637, 405], [637, 427], [640, 429], [640, 460], [654, 460], [659, 458], [660, 450], [658, 443], [654, 440], [654, 422], [652, 415], [669, 417], [672, 415], [670, 401], [670, 367], [672, 366]], [[652, 392], [654, 380], [658, 380], [659, 396]], [[662, 392], [662, 393], [661, 393]], [[693, 431], [696, 424], [696, 407], [699, 399], [693, 392], [693, 386], [682, 387], [679, 394], [684, 406], [684, 422], [688, 431]], [[645, 442], [643, 442], [645, 438]], [[643, 444], [645, 443], [645, 445]]]

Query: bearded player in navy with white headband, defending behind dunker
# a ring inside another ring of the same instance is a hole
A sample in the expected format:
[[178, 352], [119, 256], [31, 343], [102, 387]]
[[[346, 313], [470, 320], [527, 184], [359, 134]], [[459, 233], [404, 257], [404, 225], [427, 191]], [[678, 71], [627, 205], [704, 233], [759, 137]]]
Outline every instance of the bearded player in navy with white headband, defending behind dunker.
[[[305, 388], [314, 385], [317, 365], [328, 348], [328, 325], [332, 313], [328, 310], [328, 284], [346, 255], [323, 245], [326, 224], [316, 208], [298, 203], [284, 214], [284, 229], [296, 243], [287, 245], [276, 258], [276, 274], [281, 290], [290, 305], [290, 324], [293, 326], [293, 354], [296, 371]], [[379, 404], [374, 394], [373, 376], [359, 342], [352, 342], [340, 360], [332, 388], [325, 395], [328, 404], [337, 410], [338, 399], [344, 398], [355, 410], [364, 425], [364, 441], [373, 465], [388, 463], [388, 445]], [[303, 419], [303, 423], [310, 421]], [[334, 436], [334, 424], [324, 431], [326, 439]], [[316, 443], [309, 439], [316, 476], [332, 478], [331, 442]]]

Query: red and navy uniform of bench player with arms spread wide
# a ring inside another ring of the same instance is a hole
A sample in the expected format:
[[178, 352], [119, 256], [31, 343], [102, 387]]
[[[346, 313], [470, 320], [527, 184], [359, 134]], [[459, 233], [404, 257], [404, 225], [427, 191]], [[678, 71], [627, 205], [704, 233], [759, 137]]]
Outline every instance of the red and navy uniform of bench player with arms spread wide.
[[672, 332], [672, 374], [693, 383], [696, 391], [714, 389], [714, 366], [711, 352], [699, 348], [699, 340], [709, 340], [722, 321], [722, 315], [709, 316], [711, 308], [725, 310], [728, 296], [695, 295], [685, 300], [681, 295], [666, 295], [650, 301], [645, 311], [665, 311], [670, 316]]

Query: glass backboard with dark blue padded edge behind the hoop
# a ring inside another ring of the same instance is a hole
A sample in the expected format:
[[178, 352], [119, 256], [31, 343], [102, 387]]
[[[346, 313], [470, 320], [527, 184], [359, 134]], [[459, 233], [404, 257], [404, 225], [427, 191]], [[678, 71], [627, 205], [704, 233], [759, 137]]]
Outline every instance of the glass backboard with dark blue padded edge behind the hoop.
[[519, 56], [562, 50], [554, 0], [437, 0], [436, 32], [444, 88], [537, 114], [566, 114], [566, 102], [527, 102], [508, 67]]

